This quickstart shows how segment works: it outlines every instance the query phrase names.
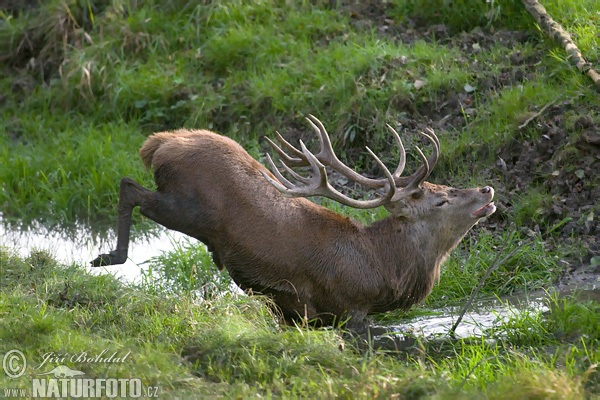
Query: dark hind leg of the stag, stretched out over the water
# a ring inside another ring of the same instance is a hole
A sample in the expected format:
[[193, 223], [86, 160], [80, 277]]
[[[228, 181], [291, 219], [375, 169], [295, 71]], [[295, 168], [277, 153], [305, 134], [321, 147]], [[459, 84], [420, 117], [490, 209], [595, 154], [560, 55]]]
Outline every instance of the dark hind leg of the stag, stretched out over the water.
[[131, 212], [141, 206], [154, 192], [146, 189], [131, 178], [121, 179], [119, 191], [119, 225], [117, 229], [117, 248], [108, 254], [99, 255], [92, 266], [123, 264], [127, 261], [129, 248], [129, 228], [131, 228]]

